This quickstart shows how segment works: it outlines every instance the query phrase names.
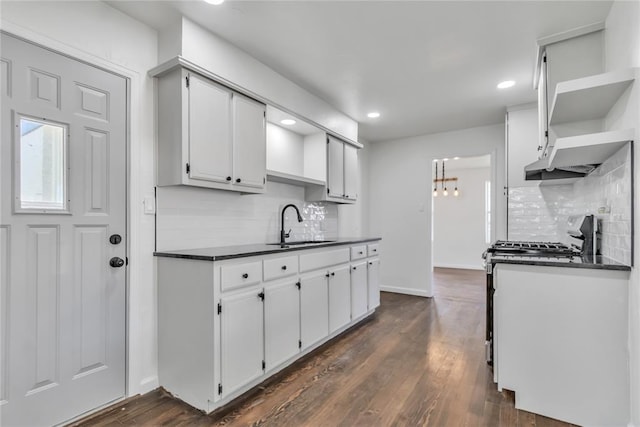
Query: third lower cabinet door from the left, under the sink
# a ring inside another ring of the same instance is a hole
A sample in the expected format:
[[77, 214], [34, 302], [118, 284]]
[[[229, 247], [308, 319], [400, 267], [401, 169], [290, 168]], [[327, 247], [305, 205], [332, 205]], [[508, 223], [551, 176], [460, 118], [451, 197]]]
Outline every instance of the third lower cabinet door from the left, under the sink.
[[307, 348], [329, 335], [329, 292], [326, 272], [300, 281], [300, 339]]

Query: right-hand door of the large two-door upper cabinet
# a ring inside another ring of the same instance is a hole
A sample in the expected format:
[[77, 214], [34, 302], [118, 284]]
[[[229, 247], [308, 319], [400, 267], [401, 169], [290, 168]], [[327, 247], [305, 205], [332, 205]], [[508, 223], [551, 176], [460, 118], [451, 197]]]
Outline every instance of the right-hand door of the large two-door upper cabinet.
[[267, 176], [266, 107], [233, 94], [233, 184], [264, 187]]

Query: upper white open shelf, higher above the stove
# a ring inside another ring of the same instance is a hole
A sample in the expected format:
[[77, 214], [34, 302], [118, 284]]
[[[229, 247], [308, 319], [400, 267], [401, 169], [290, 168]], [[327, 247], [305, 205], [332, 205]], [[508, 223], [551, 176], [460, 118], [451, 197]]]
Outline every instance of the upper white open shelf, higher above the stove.
[[636, 74], [630, 68], [558, 83], [549, 124], [605, 118]]

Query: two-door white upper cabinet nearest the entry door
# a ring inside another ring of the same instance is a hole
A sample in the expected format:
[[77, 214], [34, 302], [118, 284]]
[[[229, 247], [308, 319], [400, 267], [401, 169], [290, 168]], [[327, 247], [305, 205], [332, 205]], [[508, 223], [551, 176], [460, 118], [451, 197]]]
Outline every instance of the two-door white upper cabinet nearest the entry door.
[[183, 68], [158, 78], [158, 185], [250, 193], [266, 183], [266, 107]]

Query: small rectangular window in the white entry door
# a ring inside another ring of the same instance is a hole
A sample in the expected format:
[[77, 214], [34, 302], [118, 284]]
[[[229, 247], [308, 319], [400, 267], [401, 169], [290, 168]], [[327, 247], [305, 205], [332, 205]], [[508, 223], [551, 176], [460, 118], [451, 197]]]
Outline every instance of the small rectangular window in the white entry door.
[[18, 115], [17, 128], [16, 211], [67, 212], [67, 126]]

